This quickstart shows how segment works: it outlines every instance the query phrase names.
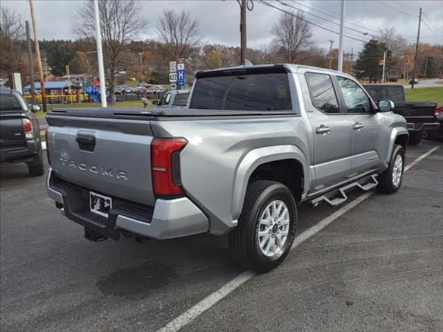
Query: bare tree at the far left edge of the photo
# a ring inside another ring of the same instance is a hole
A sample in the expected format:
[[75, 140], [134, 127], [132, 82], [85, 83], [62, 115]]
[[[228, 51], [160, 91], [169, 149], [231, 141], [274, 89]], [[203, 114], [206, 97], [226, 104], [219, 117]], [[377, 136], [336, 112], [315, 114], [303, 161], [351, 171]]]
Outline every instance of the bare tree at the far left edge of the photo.
[[24, 37], [24, 20], [17, 12], [1, 6], [0, 11], [0, 76], [8, 77], [12, 84], [12, 73], [24, 73], [24, 53], [21, 39]]

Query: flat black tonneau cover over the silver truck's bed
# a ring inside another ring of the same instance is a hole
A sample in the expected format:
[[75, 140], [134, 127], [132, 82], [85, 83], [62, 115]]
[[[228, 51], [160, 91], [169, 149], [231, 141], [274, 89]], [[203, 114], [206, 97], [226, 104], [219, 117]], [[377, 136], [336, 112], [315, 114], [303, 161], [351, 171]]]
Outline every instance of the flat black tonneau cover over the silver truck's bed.
[[235, 111], [222, 109], [144, 109], [143, 107], [91, 107], [53, 109], [48, 117], [73, 116], [81, 118], [114, 118], [114, 119], [141, 119], [155, 120], [157, 118], [187, 118], [212, 116], [287, 116], [295, 114], [293, 110], [275, 111]]

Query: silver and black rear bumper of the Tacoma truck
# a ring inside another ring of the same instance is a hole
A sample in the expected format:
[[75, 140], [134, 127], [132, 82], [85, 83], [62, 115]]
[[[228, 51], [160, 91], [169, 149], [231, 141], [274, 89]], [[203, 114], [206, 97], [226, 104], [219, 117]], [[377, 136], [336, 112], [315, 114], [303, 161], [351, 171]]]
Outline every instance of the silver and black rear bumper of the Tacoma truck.
[[154, 208], [113, 197], [113, 209], [108, 218], [89, 211], [89, 191], [55, 178], [50, 168], [47, 178], [48, 195], [63, 205], [66, 217], [117, 240], [121, 230], [152, 239], [173, 239], [208, 232], [205, 214], [186, 197], [157, 199]]

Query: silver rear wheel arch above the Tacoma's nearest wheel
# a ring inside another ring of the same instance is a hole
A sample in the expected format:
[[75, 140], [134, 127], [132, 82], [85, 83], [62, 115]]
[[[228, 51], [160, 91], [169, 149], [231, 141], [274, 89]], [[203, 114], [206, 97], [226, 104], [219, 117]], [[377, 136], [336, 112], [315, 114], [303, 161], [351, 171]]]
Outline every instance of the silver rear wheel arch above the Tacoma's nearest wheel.
[[[297, 167], [293, 176], [284, 173], [284, 175], [288, 175], [285, 179], [289, 181], [289, 183], [284, 183], [286, 181], [283, 181], [283, 183], [293, 192], [296, 201], [300, 201], [306, 195], [307, 188], [309, 187], [309, 166], [307, 164], [307, 158], [301, 149], [295, 145], [276, 145], [253, 149], [242, 158], [235, 174], [232, 202], [232, 216], [234, 220], [238, 219], [242, 212], [246, 189], [252, 177], [254, 174], [258, 174], [258, 172], [266, 171], [268, 167], [271, 167], [271, 170], [275, 169], [273, 167], [277, 167], [277, 169], [280, 169], [280, 172], [288, 171], [291, 167]], [[267, 170], [269, 171], [269, 169]], [[301, 172], [301, 174], [299, 172]], [[272, 172], [269, 172], [269, 174], [272, 174]], [[274, 174], [271, 175], [271, 177], [259, 179], [276, 181], [278, 180], [278, 176]], [[294, 181], [297, 180], [300, 181], [299, 183], [302, 185], [302, 188], [296, 187], [296, 182]]]

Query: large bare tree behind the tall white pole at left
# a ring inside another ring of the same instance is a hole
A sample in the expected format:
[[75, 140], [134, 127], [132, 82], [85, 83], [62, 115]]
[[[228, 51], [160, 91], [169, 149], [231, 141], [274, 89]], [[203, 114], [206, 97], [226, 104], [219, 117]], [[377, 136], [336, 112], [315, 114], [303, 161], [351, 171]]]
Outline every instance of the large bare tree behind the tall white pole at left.
[[[111, 101], [115, 102], [116, 73], [123, 64], [122, 51], [145, 28], [147, 20], [141, 15], [138, 0], [101, 0], [98, 6], [109, 94]], [[84, 3], [71, 18], [71, 24], [78, 35], [93, 37], [96, 31], [93, 0]]]

